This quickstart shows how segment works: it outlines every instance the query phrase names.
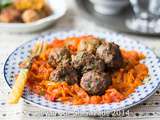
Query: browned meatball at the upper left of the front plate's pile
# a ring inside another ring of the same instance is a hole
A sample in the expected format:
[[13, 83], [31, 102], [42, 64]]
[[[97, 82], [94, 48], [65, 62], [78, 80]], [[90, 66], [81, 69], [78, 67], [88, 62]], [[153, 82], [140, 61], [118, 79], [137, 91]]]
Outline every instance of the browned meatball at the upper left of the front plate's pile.
[[70, 52], [66, 47], [55, 48], [49, 54], [48, 63], [52, 67], [56, 67], [58, 64], [64, 65], [66, 63], [69, 63], [70, 59]]

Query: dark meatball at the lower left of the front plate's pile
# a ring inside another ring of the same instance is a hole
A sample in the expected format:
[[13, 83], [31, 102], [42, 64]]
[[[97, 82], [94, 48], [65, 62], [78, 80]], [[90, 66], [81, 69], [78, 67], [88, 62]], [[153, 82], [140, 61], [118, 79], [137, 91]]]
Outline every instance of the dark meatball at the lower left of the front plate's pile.
[[50, 74], [50, 80], [54, 82], [65, 81], [69, 85], [79, 83], [77, 71], [70, 65], [66, 64], [65, 66], [58, 66]]

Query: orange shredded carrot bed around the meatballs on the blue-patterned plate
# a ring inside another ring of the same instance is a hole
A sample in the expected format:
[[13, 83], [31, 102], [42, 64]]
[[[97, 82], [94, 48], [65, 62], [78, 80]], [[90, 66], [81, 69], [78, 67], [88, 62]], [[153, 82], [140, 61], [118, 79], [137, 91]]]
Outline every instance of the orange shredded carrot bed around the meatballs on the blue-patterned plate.
[[112, 85], [102, 96], [90, 96], [79, 85], [68, 85], [66, 82], [53, 82], [49, 75], [53, 71], [47, 59], [50, 51], [58, 47], [68, 47], [72, 54], [77, 51], [80, 40], [86, 37], [70, 37], [64, 40], [56, 39], [48, 44], [46, 51], [41, 57], [32, 60], [28, 74], [28, 86], [36, 94], [44, 96], [50, 101], [61, 101], [75, 105], [81, 104], [103, 104], [119, 102], [131, 93], [136, 87], [142, 85], [142, 81], [148, 75], [147, 67], [140, 63], [145, 56], [136, 51], [121, 50], [124, 65], [112, 74]]

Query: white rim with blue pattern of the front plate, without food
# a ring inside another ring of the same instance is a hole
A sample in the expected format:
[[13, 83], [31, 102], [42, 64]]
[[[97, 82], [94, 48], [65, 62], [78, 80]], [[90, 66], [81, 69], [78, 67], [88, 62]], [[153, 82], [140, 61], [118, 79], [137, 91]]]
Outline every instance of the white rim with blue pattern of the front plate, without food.
[[33, 40], [24, 43], [20, 47], [18, 47], [15, 51], [13, 51], [4, 65], [4, 77], [6, 82], [10, 87], [12, 87], [14, 83], [14, 76], [19, 72], [18, 63], [25, 59], [29, 55], [30, 49], [33, 47], [34, 43], [39, 40], [47, 40], [51, 41], [54, 38], [64, 39], [66, 37], [71, 36], [81, 36], [81, 35], [94, 35], [100, 38], [105, 38], [108, 41], [113, 41], [119, 44], [122, 48], [127, 50], [137, 50], [146, 55], [146, 58], [142, 61], [145, 63], [149, 69], [149, 76], [144, 80], [144, 85], [139, 86], [136, 91], [131, 94], [127, 99], [119, 102], [119, 103], [110, 103], [110, 104], [100, 104], [100, 105], [70, 105], [63, 104], [60, 102], [49, 102], [45, 100], [43, 97], [30, 92], [28, 88], [25, 88], [23, 93], [23, 98], [33, 104], [41, 106], [43, 108], [47, 108], [50, 110], [57, 111], [65, 111], [69, 113], [77, 112], [78, 114], [86, 114], [90, 115], [101, 115], [102, 112], [112, 112], [115, 110], [123, 110], [134, 106], [136, 104], [141, 103], [146, 100], [149, 96], [151, 96], [155, 90], [159, 87], [160, 84], [160, 63], [157, 59], [156, 55], [146, 46], [132, 41], [129, 38], [122, 36], [117, 33], [108, 33], [108, 32], [78, 32], [78, 31], [70, 31], [70, 32], [59, 32], [59, 33], [48, 33], [47, 35], [40, 36], [34, 38]]

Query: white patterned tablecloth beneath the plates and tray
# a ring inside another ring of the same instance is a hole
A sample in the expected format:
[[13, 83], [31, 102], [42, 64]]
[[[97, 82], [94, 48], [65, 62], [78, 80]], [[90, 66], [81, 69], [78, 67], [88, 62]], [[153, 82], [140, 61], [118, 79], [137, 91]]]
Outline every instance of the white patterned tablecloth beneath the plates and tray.
[[[144, 119], [144, 120], [160, 120], [160, 90], [149, 98], [144, 103], [130, 108], [127, 112], [129, 115], [121, 116], [116, 115], [115, 117], [82, 117], [82, 116], [59, 116], [55, 113], [26, 103], [21, 100], [17, 105], [8, 105], [5, 101], [8, 96], [9, 87], [5, 83], [3, 78], [3, 64], [7, 56], [20, 44], [30, 40], [31, 38], [46, 32], [57, 32], [64, 30], [81, 30], [81, 31], [111, 31], [108, 29], [101, 28], [96, 25], [93, 21], [88, 21], [83, 18], [81, 13], [78, 11], [74, 0], [67, 0], [68, 12], [60, 19], [56, 24], [50, 26], [50, 28], [36, 32], [36, 33], [0, 33], [0, 120], [43, 120], [43, 119], [82, 119], [82, 120], [94, 120], [94, 119], [116, 119], [116, 120], [133, 120], [133, 119]], [[1, 28], [0, 28], [1, 29]], [[150, 48], [152, 48], [157, 55], [160, 56], [160, 38], [158, 37], [142, 37], [134, 35], [126, 35], [133, 40], [138, 40]]]

